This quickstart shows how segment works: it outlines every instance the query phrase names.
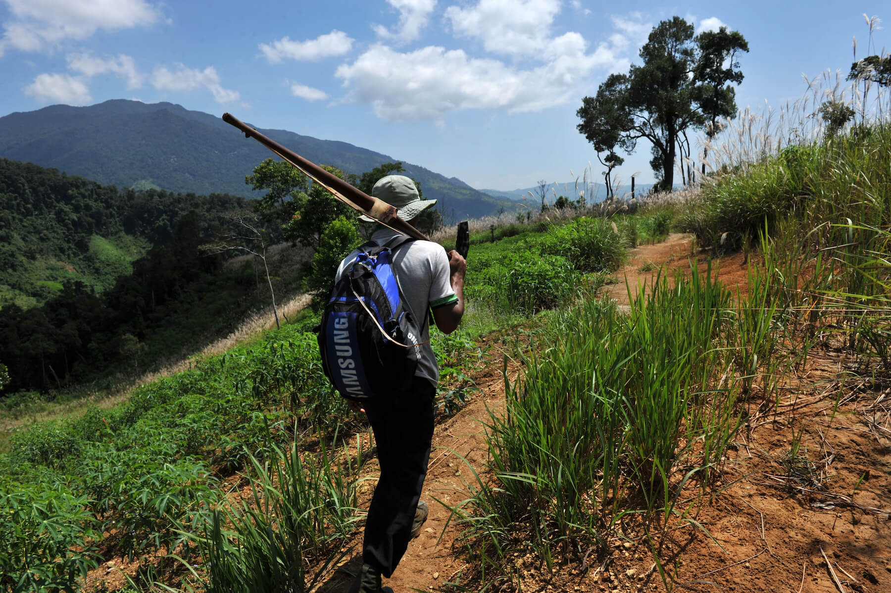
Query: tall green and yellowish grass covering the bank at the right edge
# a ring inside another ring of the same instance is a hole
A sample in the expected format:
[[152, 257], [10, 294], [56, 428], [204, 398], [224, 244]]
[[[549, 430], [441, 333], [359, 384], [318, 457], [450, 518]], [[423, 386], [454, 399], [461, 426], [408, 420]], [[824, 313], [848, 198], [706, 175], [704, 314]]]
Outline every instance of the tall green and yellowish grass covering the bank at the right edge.
[[716, 250], [757, 248], [764, 294], [753, 310], [777, 313], [797, 349], [822, 336], [864, 361], [887, 356], [891, 125], [789, 146], [719, 177], [681, 221]]

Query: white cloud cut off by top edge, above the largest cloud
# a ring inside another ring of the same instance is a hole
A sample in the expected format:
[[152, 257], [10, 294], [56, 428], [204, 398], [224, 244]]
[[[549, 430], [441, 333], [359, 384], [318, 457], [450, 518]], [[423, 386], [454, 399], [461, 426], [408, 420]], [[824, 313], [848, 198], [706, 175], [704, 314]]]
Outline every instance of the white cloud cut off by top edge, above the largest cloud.
[[481, 41], [488, 52], [530, 55], [548, 44], [559, 12], [560, 0], [480, 0], [468, 8], [449, 6], [446, 19], [455, 35]]

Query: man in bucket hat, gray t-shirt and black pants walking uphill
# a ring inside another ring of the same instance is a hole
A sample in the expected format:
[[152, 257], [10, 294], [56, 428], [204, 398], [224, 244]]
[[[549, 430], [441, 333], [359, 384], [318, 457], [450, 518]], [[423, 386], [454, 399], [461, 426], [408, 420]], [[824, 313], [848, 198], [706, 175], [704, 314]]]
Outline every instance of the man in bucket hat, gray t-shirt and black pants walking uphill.
[[[422, 200], [414, 182], [405, 175], [383, 177], [374, 184], [372, 195], [396, 207], [399, 217], [408, 223], [417, 222], [418, 215], [437, 202]], [[361, 219], [373, 222], [366, 216]], [[372, 233], [372, 241], [383, 245], [397, 234], [380, 226]], [[358, 253], [353, 251], [340, 263], [337, 279]], [[380, 463], [380, 479], [365, 520], [363, 564], [350, 593], [392, 593], [389, 587], [381, 588], [381, 576], [389, 578], [393, 574], [409, 540], [418, 536], [427, 519], [427, 504], [420, 498], [433, 438], [433, 399], [439, 371], [425, 319], [431, 310], [437, 328], [448, 334], [458, 327], [464, 314], [467, 264], [457, 252], [446, 254], [437, 243], [414, 240], [396, 248], [391, 265], [415, 321], [422, 325], [418, 339], [421, 361], [408, 392], [386, 394], [362, 404], [350, 402], [353, 410], [368, 415]]]

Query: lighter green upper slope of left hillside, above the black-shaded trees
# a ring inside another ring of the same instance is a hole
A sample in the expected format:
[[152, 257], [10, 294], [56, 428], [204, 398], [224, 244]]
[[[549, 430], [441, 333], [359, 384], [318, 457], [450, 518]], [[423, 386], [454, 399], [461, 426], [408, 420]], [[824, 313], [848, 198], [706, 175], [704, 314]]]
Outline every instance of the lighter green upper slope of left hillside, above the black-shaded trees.
[[0, 201], [0, 307], [42, 305], [58, 291], [46, 287], [66, 281], [104, 293], [152, 245], [170, 242], [188, 212], [212, 232], [217, 213], [244, 207], [219, 194], [118, 190], [5, 158]]

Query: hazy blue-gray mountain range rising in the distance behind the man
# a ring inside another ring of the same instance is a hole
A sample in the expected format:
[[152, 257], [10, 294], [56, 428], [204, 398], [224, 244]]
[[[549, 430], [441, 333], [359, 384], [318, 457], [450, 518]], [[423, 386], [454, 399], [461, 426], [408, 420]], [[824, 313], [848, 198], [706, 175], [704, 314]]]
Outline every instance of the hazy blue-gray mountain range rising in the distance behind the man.
[[[396, 158], [347, 142], [319, 140], [287, 130], [257, 128], [317, 165], [361, 175]], [[111, 100], [88, 107], [53, 105], [0, 118], [0, 157], [53, 167], [68, 175], [135, 189], [257, 198], [244, 183], [272, 153], [221, 118], [168, 102]], [[512, 210], [460, 179], [402, 161], [446, 222]]]

